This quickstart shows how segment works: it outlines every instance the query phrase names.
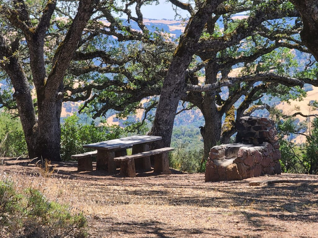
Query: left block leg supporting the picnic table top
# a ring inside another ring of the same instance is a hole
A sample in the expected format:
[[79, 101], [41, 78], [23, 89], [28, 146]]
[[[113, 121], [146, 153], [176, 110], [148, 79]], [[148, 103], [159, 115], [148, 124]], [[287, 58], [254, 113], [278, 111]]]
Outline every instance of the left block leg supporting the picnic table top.
[[110, 150], [97, 150], [96, 170], [107, 170], [109, 173], [116, 173], [115, 153]]

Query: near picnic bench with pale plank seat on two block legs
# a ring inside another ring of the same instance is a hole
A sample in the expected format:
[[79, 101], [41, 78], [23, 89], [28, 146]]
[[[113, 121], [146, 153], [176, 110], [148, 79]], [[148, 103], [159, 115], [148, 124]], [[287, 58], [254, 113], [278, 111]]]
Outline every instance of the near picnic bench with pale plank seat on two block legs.
[[174, 150], [174, 148], [166, 147], [161, 149], [154, 149], [145, 151], [133, 155], [125, 155], [115, 157], [114, 161], [121, 162], [120, 175], [124, 177], [136, 177], [135, 159], [154, 155], [155, 165], [154, 172], [159, 174], [171, 174], [169, 169], [168, 152]]

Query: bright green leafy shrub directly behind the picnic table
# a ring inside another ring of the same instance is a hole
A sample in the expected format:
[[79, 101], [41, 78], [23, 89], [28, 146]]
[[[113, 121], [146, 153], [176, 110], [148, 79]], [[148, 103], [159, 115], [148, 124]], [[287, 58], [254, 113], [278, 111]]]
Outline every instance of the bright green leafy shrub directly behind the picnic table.
[[62, 160], [70, 160], [71, 155], [90, 151], [83, 148], [85, 144], [117, 139], [121, 133], [122, 129], [118, 126], [96, 126], [94, 122], [83, 125], [77, 115], [66, 117], [61, 126]]

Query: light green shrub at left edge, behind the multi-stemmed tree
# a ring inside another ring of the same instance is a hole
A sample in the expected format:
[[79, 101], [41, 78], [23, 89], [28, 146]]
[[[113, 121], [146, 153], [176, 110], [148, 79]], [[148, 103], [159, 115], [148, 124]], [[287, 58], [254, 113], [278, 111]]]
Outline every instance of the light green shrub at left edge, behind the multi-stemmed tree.
[[20, 119], [0, 112], [0, 156], [17, 157], [27, 154]]

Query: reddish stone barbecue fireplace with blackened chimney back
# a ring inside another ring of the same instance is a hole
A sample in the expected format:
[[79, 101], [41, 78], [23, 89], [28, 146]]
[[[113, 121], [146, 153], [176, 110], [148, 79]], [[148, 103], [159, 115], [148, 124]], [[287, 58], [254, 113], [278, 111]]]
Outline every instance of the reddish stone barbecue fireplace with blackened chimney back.
[[241, 117], [236, 143], [211, 148], [205, 182], [280, 174], [280, 151], [273, 120]]

